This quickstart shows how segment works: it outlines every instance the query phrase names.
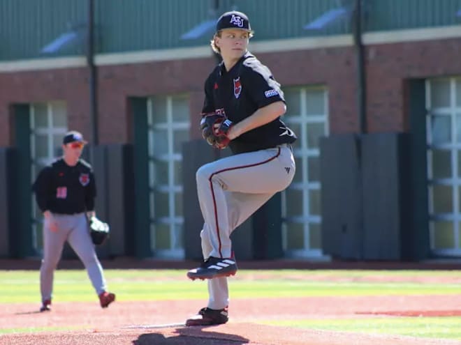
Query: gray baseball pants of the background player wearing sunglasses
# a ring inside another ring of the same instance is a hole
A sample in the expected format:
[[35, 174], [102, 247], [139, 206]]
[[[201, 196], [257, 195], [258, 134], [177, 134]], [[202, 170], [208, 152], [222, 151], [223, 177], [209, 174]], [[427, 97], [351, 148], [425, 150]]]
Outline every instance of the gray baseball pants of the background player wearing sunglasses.
[[66, 240], [78, 255], [87, 269], [96, 293], [106, 291], [106, 284], [101, 263], [94, 250], [92, 239], [88, 232], [85, 213], [75, 215], [53, 214], [57, 222], [57, 231], [50, 230], [50, 222], [45, 219], [43, 224], [43, 260], [40, 268], [40, 289], [42, 300], [52, 298], [54, 270], [61, 259]]

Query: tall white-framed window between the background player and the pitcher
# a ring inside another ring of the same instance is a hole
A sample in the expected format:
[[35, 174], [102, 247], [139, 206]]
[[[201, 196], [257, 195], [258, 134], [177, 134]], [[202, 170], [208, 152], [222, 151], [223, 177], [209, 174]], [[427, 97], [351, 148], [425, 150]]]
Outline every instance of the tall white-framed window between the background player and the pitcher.
[[152, 252], [184, 258], [182, 144], [189, 140], [189, 98], [149, 98], [149, 202]]

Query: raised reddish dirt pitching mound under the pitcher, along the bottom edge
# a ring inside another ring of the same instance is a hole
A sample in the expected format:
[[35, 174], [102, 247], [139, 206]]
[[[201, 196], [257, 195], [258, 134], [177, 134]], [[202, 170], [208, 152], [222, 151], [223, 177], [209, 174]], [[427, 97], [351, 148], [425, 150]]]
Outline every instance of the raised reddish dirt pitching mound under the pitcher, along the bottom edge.
[[300, 330], [254, 323], [228, 323], [210, 327], [121, 329], [92, 332], [53, 332], [0, 336], [10, 345], [455, 345], [459, 342], [413, 337]]

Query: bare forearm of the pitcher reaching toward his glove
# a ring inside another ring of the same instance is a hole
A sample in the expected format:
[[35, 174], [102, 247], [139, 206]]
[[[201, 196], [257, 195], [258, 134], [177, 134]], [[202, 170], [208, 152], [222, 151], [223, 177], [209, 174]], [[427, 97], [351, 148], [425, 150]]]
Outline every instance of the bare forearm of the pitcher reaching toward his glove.
[[259, 108], [251, 116], [244, 118], [239, 123], [235, 123], [228, 132], [228, 138], [233, 140], [240, 137], [245, 132], [274, 121], [279, 116], [285, 114], [285, 112], [286, 105], [281, 100]]

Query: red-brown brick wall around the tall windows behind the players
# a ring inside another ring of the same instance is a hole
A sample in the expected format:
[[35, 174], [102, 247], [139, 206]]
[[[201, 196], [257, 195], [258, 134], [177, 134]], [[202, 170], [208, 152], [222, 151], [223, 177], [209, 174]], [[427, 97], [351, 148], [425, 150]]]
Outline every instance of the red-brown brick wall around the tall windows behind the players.
[[[371, 45], [366, 48], [369, 132], [408, 130], [405, 81], [461, 75], [461, 39]], [[329, 91], [330, 132], [358, 130], [356, 55], [353, 47], [257, 54], [282, 86], [325, 84]], [[215, 60], [191, 59], [98, 68], [99, 141], [131, 141], [126, 99], [187, 92], [191, 116], [200, 112], [203, 82]], [[91, 137], [88, 74], [85, 68], [0, 73], [0, 146], [13, 145], [9, 105], [66, 100], [69, 128]], [[194, 118], [191, 119], [192, 123]], [[198, 120], [197, 120], [198, 121]], [[200, 134], [192, 126], [191, 135]]]

